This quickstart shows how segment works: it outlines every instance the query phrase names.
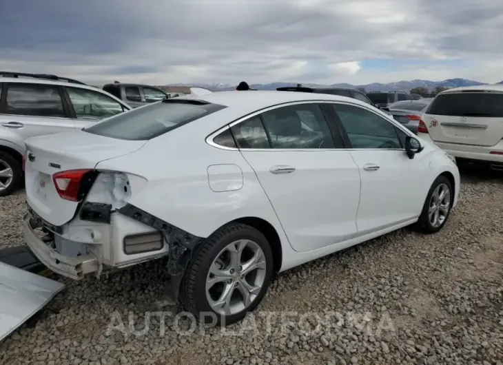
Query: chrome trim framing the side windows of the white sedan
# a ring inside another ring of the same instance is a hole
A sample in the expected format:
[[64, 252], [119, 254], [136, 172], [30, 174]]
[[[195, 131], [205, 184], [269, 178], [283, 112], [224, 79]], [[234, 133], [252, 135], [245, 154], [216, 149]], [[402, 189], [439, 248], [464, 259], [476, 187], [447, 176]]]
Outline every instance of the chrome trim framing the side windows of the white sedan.
[[[361, 102], [363, 103], [363, 102]], [[387, 118], [387, 114], [384, 114], [385, 117], [382, 115], [374, 112], [371, 110], [369, 107], [367, 107], [367, 104], [365, 105], [359, 105], [356, 103], [351, 103], [348, 101], [331, 101], [331, 100], [309, 100], [309, 101], [290, 101], [288, 103], [281, 103], [277, 105], [272, 105], [270, 107], [265, 107], [264, 109], [257, 110], [255, 112], [252, 112], [250, 114], [247, 114], [246, 116], [242, 116], [241, 118], [236, 119], [236, 121], [233, 121], [227, 125], [224, 125], [220, 129], [217, 129], [215, 132], [212, 134], [209, 134], [209, 136], [206, 137], [206, 143], [212, 147], [218, 148], [218, 149], [224, 149], [226, 151], [247, 151], [247, 152], [266, 152], [266, 151], [280, 151], [280, 152], [326, 152], [326, 151], [402, 151], [405, 152], [404, 148], [389, 148], [389, 149], [382, 149], [382, 148], [238, 148], [238, 147], [225, 147], [222, 145], [218, 145], [214, 143], [213, 139], [218, 136], [218, 134], [225, 132], [227, 129], [231, 129], [234, 127], [234, 125], [237, 125], [239, 123], [243, 123], [247, 121], [250, 118], [254, 118], [255, 116], [269, 112], [269, 110], [275, 110], [280, 107], [287, 107], [290, 105], [302, 105], [302, 104], [345, 104], [345, 105], [351, 105], [354, 107], [361, 107], [363, 110], [367, 110], [368, 112], [371, 112], [373, 114], [376, 114], [376, 116], [379, 116], [380, 118], [384, 119], [384, 121], [387, 121], [388, 123], [391, 123], [395, 127], [398, 127], [402, 132], [407, 134], [408, 136], [412, 136], [413, 138], [417, 138], [409, 129], [406, 127], [402, 126], [398, 121], [395, 121], [391, 116]], [[371, 106], [371, 105], [370, 105]]]

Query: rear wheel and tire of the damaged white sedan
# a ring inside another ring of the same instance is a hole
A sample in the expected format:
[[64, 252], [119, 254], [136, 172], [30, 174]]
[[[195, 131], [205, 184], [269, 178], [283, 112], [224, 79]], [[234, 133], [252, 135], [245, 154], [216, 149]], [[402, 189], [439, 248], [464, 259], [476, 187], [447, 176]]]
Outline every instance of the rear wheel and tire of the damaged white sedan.
[[240, 223], [225, 225], [194, 252], [182, 283], [183, 304], [203, 322], [233, 324], [258, 306], [272, 273], [263, 233]]

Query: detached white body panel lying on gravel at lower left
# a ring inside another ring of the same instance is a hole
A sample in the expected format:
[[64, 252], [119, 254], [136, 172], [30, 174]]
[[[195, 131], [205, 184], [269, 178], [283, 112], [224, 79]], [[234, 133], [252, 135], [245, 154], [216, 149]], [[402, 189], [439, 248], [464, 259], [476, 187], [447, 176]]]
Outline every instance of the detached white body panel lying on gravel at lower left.
[[64, 286], [0, 262], [0, 341], [48, 304]]

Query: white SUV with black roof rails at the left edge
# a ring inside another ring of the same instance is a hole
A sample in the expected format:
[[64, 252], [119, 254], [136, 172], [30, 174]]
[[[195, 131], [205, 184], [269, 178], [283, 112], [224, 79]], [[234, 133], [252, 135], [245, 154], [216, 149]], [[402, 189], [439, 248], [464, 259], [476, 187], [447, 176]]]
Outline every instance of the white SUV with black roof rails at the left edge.
[[80, 81], [45, 74], [0, 72], [0, 196], [23, 178], [25, 138], [90, 127], [131, 110], [118, 98]]

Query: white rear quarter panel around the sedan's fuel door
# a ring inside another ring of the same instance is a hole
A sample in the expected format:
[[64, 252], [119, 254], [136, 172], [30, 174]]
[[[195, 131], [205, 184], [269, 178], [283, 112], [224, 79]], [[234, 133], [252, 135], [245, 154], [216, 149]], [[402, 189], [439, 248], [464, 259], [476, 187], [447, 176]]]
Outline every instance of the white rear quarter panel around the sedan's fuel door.
[[[241, 153], [212, 147], [205, 142], [206, 136], [194, 138], [185, 127], [188, 125], [96, 168], [146, 178], [140, 191], [132, 185], [130, 204], [196, 236], [206, 238], [227, 222], [256, 217], [269, 222], [282, 242], [287, 242], [269, 199]], [[208, 167], [225, 164], [240, 167], [243, 185], [233, 191], [214, 191], [209, 186]]]

